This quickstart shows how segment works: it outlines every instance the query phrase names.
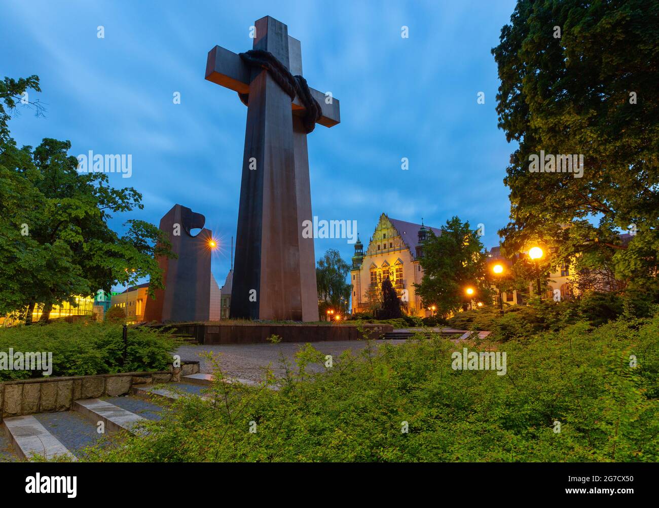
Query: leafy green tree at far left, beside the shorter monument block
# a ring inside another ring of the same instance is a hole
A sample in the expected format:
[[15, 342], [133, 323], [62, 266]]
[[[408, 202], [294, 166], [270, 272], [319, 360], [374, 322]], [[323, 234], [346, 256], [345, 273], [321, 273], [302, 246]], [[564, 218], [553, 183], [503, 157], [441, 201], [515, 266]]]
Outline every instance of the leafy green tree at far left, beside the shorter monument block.
[[[5, 78], [0, 99], [11, 111], [27, 88], [38, 91], [36, 76]], [[151, 294], [162, 288], [155, 258], [173, 256], [167, 236], [142, 220], [129, 220], [123, 236], [107, 225], [113, 212], [142, 209], [142, 195], [112, 188], [107, 174], [78, 174], [69, 141], [45, 138], [34, 150], [17, 149], [9, 118], [0, 107], [0, 314], [29, 324], [40, 303], [47, 321], [55, 304], [74, 305], [76, 295], [109, 292], [144, 276]]]

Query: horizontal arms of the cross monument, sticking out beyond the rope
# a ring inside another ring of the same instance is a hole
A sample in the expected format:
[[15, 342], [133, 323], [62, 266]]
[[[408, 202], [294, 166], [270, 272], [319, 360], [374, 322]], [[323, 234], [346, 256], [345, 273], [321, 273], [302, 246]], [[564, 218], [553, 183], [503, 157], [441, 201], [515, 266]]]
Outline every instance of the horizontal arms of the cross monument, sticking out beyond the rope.
[[[240, 55], [223, 47], [215, 46], [208, 51], [206, 80], [238, 93], [249, 93], [251, 69], [243, 62]], [[322, 110], [322, 116], [318, 123], [325, 127], [332, 127], [341, 122], [339, 99], [332, 97], [331, 104], [328, 104], [324, 93], [313, 88], [309, 88], [309, 90]], [[295, 97], [291, 105], [294, 114], [304, 114], [304, 105], [302, 105], [299, 97]]]

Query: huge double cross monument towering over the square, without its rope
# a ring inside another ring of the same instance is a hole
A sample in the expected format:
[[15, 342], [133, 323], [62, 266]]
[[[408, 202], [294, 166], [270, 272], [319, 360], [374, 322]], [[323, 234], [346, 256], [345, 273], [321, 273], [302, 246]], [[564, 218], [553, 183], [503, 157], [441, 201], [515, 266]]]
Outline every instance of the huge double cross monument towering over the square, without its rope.
[[[306, 134], [314, 122], [338, 124], [339, 101], [306, 87], [300, 41], [285, 24], [265, 16], [254, 27], [247, 55], [215, 46], [206, 63], [206, 79], [248, 106], [230, 316], [317, 321], [314, 239], [302, 238], [312, 220]], [[269, 66], [258, 63], [266, 57]]]

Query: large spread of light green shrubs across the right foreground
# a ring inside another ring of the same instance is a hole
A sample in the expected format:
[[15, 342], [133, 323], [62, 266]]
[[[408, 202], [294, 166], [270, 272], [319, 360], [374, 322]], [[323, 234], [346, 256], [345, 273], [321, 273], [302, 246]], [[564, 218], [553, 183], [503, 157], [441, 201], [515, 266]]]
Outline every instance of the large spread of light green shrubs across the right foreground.
[[332, 367], [307, 344], [279, 390], [269, 389], [272, 371], [256, 387], [221, 382], [218, 363], [209, 399], [182, 397], [145, 424], [149, 434], [85, 460], [656, 462], [658, 338], [659, 315], [469, 344], [507, 353], [503, 376], [453, 370], [457, 346], [438, 334], [403, 345], [367, 341]]

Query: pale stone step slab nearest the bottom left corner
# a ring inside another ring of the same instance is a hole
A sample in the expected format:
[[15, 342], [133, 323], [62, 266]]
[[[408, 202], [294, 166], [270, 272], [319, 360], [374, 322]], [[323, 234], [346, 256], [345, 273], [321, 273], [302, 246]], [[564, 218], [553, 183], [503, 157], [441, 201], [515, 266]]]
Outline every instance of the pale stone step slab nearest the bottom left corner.
[[3, 426], [9, 432], [9, 439], [20, 459], [30, 460], [33, 455], [43, 455], [46, 459], [66, 455], [73, 461], [77, 460], [34, 415], [6, 418]]

